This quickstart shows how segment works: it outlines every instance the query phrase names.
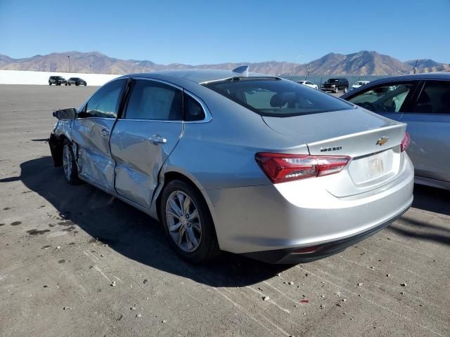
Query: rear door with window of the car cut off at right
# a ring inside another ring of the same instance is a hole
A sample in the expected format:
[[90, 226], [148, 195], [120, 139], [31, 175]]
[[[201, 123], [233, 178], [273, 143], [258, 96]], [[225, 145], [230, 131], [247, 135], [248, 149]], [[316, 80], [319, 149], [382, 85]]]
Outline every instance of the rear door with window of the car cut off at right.
[[425, 81], [401, 121], [416, 176], [450, 181], [450, 81]]

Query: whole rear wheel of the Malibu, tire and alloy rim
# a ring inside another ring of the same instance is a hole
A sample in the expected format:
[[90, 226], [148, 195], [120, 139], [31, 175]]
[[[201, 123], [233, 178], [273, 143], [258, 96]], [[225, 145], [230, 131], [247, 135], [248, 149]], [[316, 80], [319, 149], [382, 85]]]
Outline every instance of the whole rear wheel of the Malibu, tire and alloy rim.
[[[184, 202], [186, 197], [189, 198], [188, 203]], [[169, 244], [184, 260], [205, 263], [219, 255], [210, 210], [202, 194], [188, 183], [169, 181], [162, 191], [160, 216]], [[174, 230], [169, 230], [169, 227]]]

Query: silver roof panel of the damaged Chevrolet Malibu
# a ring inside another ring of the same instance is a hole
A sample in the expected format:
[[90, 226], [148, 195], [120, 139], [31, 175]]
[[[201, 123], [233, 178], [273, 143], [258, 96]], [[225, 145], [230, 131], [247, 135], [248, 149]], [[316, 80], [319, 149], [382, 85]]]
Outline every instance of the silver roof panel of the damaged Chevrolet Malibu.
[[[148, 77], [157, 79], [187, 79], [195, 83], [203, 83], [210, 81], [219, 81], [221, 79], [230, 79], [232, 77], [247, 77], [245, 74], [239, 72], [232, 72], [231, 70], [164, 70], [160, 72], [147, 72], [141, 74], [129, 74], [131, 77]], [[256, 72], [249, 72], [248, 77], [268, 77], [269, 75], [258, 74]]]

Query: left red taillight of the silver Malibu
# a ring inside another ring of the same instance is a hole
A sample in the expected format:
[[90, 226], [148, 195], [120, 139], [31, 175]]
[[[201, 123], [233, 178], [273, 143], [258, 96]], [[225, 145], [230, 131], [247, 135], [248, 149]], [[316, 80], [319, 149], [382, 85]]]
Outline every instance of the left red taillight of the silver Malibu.
[[272, 183], [283, 183], [338, 173], [344, 169], [351, 158], [262, 152], [257, 153], [255, 159]]

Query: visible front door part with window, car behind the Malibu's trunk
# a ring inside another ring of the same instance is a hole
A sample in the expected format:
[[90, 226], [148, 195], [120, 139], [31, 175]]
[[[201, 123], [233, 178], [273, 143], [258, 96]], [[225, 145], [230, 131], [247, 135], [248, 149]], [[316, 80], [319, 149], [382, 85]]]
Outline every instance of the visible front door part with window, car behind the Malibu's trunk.
[[346, 100], [399, 121], [420, 81], [396, 81], [368, 86]]

